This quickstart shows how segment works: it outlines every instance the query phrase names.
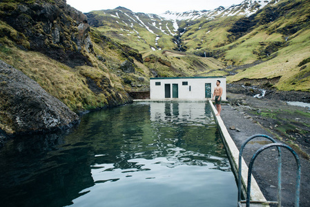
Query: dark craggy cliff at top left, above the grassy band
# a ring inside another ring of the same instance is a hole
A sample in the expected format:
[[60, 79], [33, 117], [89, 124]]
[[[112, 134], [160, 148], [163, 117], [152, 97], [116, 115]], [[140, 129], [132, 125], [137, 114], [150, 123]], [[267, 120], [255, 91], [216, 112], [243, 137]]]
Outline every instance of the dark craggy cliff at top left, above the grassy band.
[[87, 17], [66, 0], [3, 3], [1, 7], [0, 19], [29, 41], [28, 48], [25, 44], [21, 48], [42, 52], [71, 67], [91, 66], [83, 51], [93, 52]]

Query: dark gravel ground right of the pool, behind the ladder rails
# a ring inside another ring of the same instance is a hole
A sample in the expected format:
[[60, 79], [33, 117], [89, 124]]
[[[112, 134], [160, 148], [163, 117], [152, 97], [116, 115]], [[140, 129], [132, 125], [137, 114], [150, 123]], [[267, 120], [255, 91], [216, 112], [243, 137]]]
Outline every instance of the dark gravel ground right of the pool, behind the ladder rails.
[[[221, 117], [238, 148], [251, 135], [264, 134], [292, 146], [301, 162], [300, 206], [310, 206], [310, 111], [309, 108], [290, 106], [284, 101], [258, 99], [227, 93], [229, 103], [222, 104]], [[290, 129], [282, 132], [282, 128]], [[293, 129], [295, 128], [295, 129]], [[281, 139], [281, 140], [279, 140]], [[244, 149], [244, 160], [249, 161], [267, 139], [250, 141]], [[295, 146], [294, 146], [295, 145]], [[255, 160], [253, 175], [269, 201], [277, 200], [278, 152], [269, 148]], [[296, 161], [289, 150], [282, 150], [282, 206], [293, 206], [296, 190]]]

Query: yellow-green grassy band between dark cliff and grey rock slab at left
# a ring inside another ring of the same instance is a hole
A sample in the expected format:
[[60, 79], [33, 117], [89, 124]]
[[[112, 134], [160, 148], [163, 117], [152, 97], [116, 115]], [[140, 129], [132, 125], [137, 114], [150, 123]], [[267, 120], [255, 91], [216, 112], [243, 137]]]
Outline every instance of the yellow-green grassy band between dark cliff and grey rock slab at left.
[[93, 67], [77, 66], [75, 68], [70, 68], [39, 52], [19, 50], [14, 46], [0, 46], [0, 58], [37, 81], [47, 92], [76, 112], [108, 106], [110, 97], [115, 95], [114, 89], [110, 91], [106, 88], [101, 89], [104, 90], [102, 93], [90, 90], [88, 83], [92, 81], [106, 80], [107, 88], [113, 87], [126, 97], [121, 80], [110, 74], [108, 68], [93, 55], [90, 55]]

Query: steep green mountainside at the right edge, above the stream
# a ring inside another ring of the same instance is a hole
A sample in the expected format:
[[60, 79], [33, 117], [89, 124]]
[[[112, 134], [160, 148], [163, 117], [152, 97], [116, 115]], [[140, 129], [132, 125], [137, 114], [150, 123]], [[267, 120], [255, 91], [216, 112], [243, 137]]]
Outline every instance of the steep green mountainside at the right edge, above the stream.
[[[310, 91], [310, 8], [309, 1], [281, 1], [255, 17], [258, 22], [251, 32], [240, 37], [232, 50], [226, 51], [225, 61], [242, 64], [261, 59], [264, 63], [248, 68], [230, 81], [243, 78], [281, 77], [275, 84], [279, 90]], [[273, 21], [265, 23], [262, 17]], [[302, 61], [304, 61], [302, 63]]]

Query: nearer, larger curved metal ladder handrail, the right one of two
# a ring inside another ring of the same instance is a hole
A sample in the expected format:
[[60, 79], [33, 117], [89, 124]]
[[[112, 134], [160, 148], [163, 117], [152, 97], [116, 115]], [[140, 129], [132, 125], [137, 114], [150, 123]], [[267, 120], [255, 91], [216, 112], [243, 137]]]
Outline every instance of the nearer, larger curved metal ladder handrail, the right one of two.
[[295, 207], [299, 207], [299, 197], [300, 197], [300, 174], [301, 174], [301, 168], [300, 168], [300, 159], [297, 155], [297, 153], [289, 146], [286, 144], [282, 143], [271, 143], [267, 144], [265, 146], [262, 146], [260, 149], [258, 149], [255, 154], [253, 155], [250, 164], [249, 164], [249, 172], [248, 172], [248, 185], [247, 185], [247, 190], [246, 190], [246, 207], [250, 206], [250, 193], [251, 193], [251, 174], [252, 174], [252, 168], [253, 168], [253, 163], [263, 150], [266, 150], [267, 148], [271, 148], [273, 146], [276, 146], [277, 148], [283, 147], [287, 148], [295, 157], [298, 169], [297, 169], [297, 177], [296, 177], [296, 195], [295, 195]]

